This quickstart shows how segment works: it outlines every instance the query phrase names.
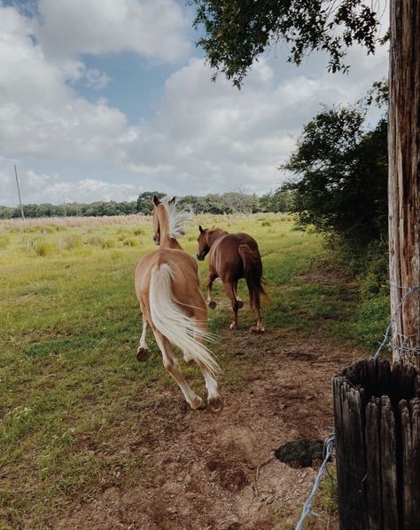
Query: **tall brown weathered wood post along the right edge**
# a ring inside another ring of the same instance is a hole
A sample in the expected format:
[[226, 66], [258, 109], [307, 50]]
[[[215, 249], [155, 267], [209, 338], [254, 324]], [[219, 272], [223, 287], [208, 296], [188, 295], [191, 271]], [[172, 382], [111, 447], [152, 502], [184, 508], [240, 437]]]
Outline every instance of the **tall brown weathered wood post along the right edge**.
[[[390, 0], [389, 273], [393, 360], [420, 368], [420, 2]], [[419, 525], [420, 527], [420, 525]]]

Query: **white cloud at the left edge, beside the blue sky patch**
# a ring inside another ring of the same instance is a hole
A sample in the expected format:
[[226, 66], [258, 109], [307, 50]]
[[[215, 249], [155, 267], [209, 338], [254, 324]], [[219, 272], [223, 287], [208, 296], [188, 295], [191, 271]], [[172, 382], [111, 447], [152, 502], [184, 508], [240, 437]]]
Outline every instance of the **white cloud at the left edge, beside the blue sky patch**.
[[78, 98], [68, 78], [89, 83], [106, 78], [80, 63], [64, 68], [34, 44], [31, 20], [0, 6], [0, 146], [9, 156], [97, 158], [126, 127], [126, 117], [104, 100]]

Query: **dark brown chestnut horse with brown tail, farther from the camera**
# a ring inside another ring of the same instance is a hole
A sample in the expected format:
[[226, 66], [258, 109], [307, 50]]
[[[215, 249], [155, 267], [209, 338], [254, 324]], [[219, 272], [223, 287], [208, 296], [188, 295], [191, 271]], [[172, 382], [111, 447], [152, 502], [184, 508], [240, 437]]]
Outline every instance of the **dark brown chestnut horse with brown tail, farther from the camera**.
[[244, 306], [237, 297], [237, 281], [245, 278], [250, 305], [257, 313], [257, 324], [253, 330], [262, 333], [265, 329], [261, 320], [261, 295], [265, 294], [265, 291], [261, 285], [262, 263], [257, 241], [247, 233], [227, 233], [221, 228], [198, 228], [200, 233], [197, 259], [203, 260], [210, 252], [207, 304], [212, 309], [216, 306], [212, 300], [212, 285], [216, 278], [220, 278], [233, 310], [230, 329], [236, 329], [237, 310]]

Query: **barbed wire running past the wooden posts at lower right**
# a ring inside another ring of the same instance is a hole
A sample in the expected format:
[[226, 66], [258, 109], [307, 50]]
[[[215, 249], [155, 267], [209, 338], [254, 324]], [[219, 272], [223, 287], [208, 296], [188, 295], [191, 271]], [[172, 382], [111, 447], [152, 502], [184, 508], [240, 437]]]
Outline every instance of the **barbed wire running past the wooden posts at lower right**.
[[[379, 347], [377, 348], [377, 352], [375, 352], [375, 354], [372, 356], [372, 359], [377, 359], [377, 357], [379, 356], [379, 353], [384, 348], [384, 346], [386, 344], [386, 341], [389, 338], [389, 333], [391, 331], [391, 328], [393, 327], [393, 323], [395, 322], [395, 319], [397, 318], [399, 312], [401, 312], [402, 305], [404, 305], [404, 302], [406, 301], [406, 298], [411, 296], [411, 295], [413, 295], [414, 293], [416, 293], [417, 291], [420, 290], [420, 285], [415, 285], [413, 287], [405, 287], [403, 285], [397, 285], [396, 283], [393, 283], [393, 282], [390, 282], [390, 285], [393, 285], [393, 287], [396, 287], [398, 289], [406, 289], [407, 292], [404, 294], [403, 297], [401, 297], [399, 305], [397, 305], [397, 308], [393, 312], [393, 316], [391, 317], [391, 320], [390, 320], [388, 326], [385, 329], [384, 340], [381, 342], [381, 344], [379, 344]], [[400, 350], [401, 352], [410, 353], [412, 355], [419, 355], [420, 354], [420, 346], [416, 346], [415, 348], [408, 348], [405, 345], [407, 343], [408, 339], [411, 336], [416, 336], [416, 334], [415, 335], [410, 335], [410, 336], [404, 336], [403, 334], [401, 334], [398, 331], [396, 332], [396, 334], [398, 336], [400, 336], [400, 337], [403, 337], [404, 340], [402, 341], [401, 346], [397, 346], [397, 345], [393, 344], [393, 348], [395, 348], [397, 350]], [[323, 446], [324, 447], [323, 463], [321, 464], [321, 467], [319, 468], [318, 474], [316, 475], [316, 479], [315, 479], [315, 482], [314, 482], [314, 486], [312, 486], [311, 493], [307, 497], [307, 500], [303, 503], [302, 513], [301, 513], [301, 516], [299, 518], [298, 524], [295, 526], [295, 530], [302, 530], [303, 524], [305, 523], [305, 519], [307, 518], [308, 515], [317, 516], [315, 511], [312, 511], [312, 502], [314, 501], [314, 497], [315, 497], [315, 494], [317, 493], [317, 491], [319, 489], [319, 486], [321, 486], [321, 481], [323, 479], [323, 473], [327, 470], [327, 464], [328, 464], [328, 462], [331, 459], [332, 451], [334, 449], [335, 439], [336, 439], [335, 432], [333, 432], [330, 436], [328, 436], [325, 439], [324, 446]]]

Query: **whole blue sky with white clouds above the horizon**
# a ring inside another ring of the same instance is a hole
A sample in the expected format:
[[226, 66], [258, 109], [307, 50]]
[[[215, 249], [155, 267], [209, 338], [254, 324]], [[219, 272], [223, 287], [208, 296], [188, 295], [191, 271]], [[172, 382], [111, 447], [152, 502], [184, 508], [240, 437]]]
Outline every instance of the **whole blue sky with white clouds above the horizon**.
[[175, 0], [0, 0], [0, 205], [19, 203], [14, 164], [25, 204], [274, 191], [303, 125], [387, 75], [387, 46], [350, 49], [343, 75], [279, 44], [238, 91], [212, 82], [193, 18]]

